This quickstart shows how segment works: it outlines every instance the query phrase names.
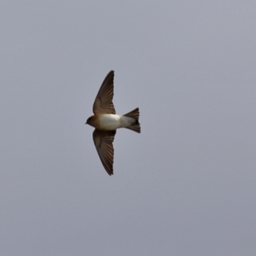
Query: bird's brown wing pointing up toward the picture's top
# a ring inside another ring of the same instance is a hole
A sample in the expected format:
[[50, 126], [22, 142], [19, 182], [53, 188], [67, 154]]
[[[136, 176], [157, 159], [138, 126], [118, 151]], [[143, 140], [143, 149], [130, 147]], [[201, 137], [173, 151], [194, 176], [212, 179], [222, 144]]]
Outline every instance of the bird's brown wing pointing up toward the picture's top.
[[93, 103], [93, 113], [98, 114], [115, 114], [115, 107], [113, 105], [114, 95], [114, 71], [111, 70], [105, 77], [100, 86], [100, 90]]

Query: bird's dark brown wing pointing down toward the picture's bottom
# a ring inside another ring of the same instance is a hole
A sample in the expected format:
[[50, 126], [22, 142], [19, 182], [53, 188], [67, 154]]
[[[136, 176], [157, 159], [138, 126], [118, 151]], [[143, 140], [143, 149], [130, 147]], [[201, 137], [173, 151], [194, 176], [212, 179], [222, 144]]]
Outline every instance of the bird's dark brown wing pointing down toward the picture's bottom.
[[103, 164], [109, 175], [113, 175], [114, 148], [113, 140], [116, 131], [93, 131], [93, 142]]

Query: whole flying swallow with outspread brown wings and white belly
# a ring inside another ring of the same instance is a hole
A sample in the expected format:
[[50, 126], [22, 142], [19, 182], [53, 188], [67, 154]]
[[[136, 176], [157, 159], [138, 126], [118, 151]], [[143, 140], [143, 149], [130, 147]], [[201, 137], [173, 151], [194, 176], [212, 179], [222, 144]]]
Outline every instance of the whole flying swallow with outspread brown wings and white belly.
[[133, 109], [125, 115], [116, 115], [113, 104], [114, 71], [109, 71], [102, 82], [93, 103], [93, 113], [85, 124], [95, 128], [93, 142], [99, 154], [100, 161], [109, 175], [113, 175], [114, 148], [113, 141], [116, 129], [127, 128], [134, 132], [141, 132], [139, 108]]

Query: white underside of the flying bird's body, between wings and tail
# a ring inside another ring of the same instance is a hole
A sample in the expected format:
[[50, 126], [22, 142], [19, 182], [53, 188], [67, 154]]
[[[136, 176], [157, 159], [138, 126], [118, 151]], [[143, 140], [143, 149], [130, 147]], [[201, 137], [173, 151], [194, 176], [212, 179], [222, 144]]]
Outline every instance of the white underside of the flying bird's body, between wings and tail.
[[120, 115], [102, 115], [100, 116], [100, 127], [108, 131], [116, 130], [122, 127], [129, 127], [134, 123], [134, 118]]

